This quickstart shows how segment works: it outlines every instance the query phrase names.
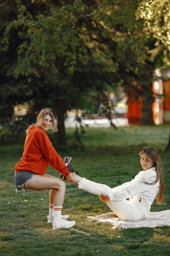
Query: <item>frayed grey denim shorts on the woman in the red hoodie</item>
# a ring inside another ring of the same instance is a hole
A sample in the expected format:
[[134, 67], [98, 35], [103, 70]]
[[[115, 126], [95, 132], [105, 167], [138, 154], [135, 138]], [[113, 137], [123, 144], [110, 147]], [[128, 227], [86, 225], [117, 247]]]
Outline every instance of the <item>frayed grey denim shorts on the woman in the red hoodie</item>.
[[18, 192], [19, 190], [22, 190], [24, 192], [24, 185], [26, 185], [34, 175], [35, 173], [29, 171], [14, 173], [15, 191]]

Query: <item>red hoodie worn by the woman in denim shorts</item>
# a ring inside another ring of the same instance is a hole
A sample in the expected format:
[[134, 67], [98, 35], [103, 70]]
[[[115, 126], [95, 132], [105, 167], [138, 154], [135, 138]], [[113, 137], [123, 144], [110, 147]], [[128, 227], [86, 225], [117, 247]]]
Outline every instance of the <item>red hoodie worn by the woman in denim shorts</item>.
[[70, 172], [62, 161], [62, 157], [57, 154], [46, 132], [32, 125], [26, 135], [23, 155], [15, 165], [15, 173], [30, 171], [44, 175], [51, 164], [59, 173], [67, 177]]

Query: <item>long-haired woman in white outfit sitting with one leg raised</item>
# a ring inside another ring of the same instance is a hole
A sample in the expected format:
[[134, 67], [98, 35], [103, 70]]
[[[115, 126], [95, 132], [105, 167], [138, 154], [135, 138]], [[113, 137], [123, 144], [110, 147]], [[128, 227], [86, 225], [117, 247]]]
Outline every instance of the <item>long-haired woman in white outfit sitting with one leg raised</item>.
[[[142, 149], [139, 155], [143, 171], [139, 171], [130, 182], [111, 189], [105, 184], [92, 182], [75, 174], [74, 183], [79, 189], [99, 195], [99, 199], [106, 203], [121, 220], [142, 220], [144, 216], [149, 216], [155, 198], [158, 204], [163, 202], [164, 184], [163, 164], [157, 150], [149, 146]], [[73, 172], [71, 164], [67, 167]]]

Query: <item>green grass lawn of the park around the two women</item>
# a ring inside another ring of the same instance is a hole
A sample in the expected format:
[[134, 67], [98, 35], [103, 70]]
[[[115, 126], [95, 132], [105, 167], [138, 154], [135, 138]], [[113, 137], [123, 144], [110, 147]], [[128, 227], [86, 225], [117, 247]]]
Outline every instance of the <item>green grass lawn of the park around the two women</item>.
[[[151, 211], [170, 209], [170, 152], [165, 152], [168, 125], [85, 128], [86, 151], [58, 152], [71, 155], [81, 176], [109, 186], [131, 180], [140, 170], [139, 151], [155, 146], [164, 163], [165, 201]], [[75, 143], [74, 129], [67, 129], [68, 142]], [[57, 149], [57, 148], [56, 148]], [[112, 225], [88, 222], [88, 216], [110, 211], [96, 195], [66, 183], [63, 214], [76, 224], [53, 230], [47, 223], [49, 191], [15, 193], [13, 173], [23, 145], [0, 146], [0, 255], [2, 256], [151, 256], [170, 255], [170, 227], [112, 230]], [[51, 166], [47, 174], [60, 177]], [[121, 236], [121, 238], [118, 238]]]

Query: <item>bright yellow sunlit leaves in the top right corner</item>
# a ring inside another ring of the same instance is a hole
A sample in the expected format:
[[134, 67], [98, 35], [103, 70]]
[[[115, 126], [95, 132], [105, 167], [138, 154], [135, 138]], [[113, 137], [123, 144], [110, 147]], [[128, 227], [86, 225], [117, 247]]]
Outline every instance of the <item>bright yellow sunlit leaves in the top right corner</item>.
[[137, 17], [144, 20], [146, 36], [155, 39], [155, 46], [149, 49], [150, 61], [156, 67], [170, 66], [170, 1], [142, 0]]

